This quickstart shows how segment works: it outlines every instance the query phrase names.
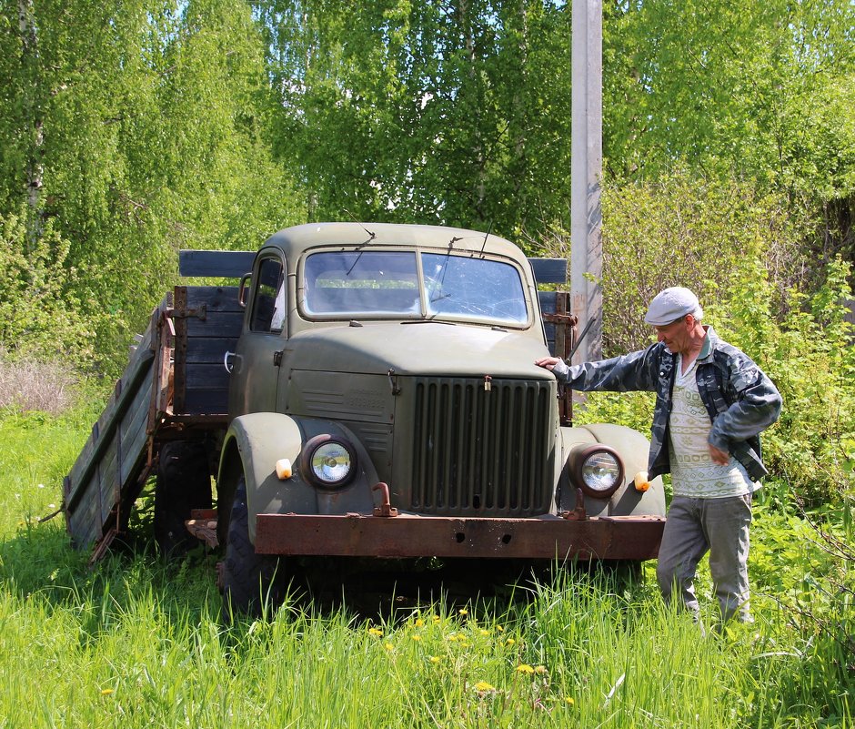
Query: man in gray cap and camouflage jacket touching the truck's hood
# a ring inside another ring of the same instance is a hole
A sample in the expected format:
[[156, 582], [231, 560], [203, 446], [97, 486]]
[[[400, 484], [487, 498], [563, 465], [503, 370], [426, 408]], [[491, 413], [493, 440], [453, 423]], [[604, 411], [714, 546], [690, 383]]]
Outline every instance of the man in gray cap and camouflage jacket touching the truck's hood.
[[657, 343], [622, 357], [568, 367], [538, 359], [574, 390], [652, 390], [656, 407], [648, 474], [671, 474], [674, 496], [659, 547], [657, 579], [699, 617], [694, 578], [709, 551], [722, 623], [749, 613], [751, 494], [766, 471], [759, 433], [778, 420], [779, 391], [743, 352], [701, 324], [689, 289], [664, 289], [644, 320]]

